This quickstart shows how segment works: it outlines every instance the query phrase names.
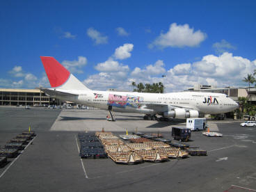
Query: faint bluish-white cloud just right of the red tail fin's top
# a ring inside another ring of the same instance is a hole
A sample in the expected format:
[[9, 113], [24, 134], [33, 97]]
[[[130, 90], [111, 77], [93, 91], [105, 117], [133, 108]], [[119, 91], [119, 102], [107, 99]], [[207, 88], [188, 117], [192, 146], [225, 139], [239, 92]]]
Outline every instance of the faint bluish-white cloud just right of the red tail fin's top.
[[61, 64], [64, 65], [64, 67], [67, 68], [71, 73], [78, 73], [81, 74], [83, 73], [83, 70], [81, 70], [81, 67], [86, 65], [87, 63], [87, 58], [84, 56], [79, 56], [78, 60], [74, 61], [63, 61]]

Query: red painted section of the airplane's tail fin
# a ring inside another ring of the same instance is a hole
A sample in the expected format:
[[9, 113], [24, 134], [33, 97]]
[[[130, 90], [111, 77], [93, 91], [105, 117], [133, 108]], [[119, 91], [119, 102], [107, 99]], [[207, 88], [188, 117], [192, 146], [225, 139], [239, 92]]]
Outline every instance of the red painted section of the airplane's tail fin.
[[55, 88], [63, 85], [70, 77], [70, 72], [61, 63], [58, 63], [55, 58], [51, 56], [40, 56], [40, 58], [45, 67], [51, 87]]

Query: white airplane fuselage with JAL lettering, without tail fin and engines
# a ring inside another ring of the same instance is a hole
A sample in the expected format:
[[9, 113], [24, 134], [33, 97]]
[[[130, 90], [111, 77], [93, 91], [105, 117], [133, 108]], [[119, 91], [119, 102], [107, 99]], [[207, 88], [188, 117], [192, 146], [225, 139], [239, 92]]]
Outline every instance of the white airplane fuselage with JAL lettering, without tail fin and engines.
[[[58, 91], [54, 88], [49, 90]], [[199, 113], [217, 114], [233, 111], [238, 106], [227, 95], [221, 93], [137, 93], [63, 89], [60, 91], [75, 95], [56, 95], [59, 99], [98, 109], [109, 109], [109, 106], [112, 106], [113, 111], [127, 113], [160, 114], [174, 108], [182, 108]]]

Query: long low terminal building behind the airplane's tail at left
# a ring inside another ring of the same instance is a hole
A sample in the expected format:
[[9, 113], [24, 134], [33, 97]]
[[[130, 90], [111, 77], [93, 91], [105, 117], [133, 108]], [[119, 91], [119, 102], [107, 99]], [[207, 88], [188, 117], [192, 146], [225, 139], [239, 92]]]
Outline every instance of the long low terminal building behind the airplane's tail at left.
[[0, 89], [0, 105], [48, 106], [56, 102], [39, 89]]

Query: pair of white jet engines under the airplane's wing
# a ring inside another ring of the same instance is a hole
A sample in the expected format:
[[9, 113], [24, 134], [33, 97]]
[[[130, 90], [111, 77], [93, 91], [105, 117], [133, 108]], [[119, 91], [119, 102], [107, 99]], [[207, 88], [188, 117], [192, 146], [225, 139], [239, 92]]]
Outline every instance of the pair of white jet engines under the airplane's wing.
[[198, 118], [199, 112], [195, 110], [186, 111], [185, 109], [176, 108], [171, 111], [163, 112], [164, 117], [172, 117], [177, 119]]

